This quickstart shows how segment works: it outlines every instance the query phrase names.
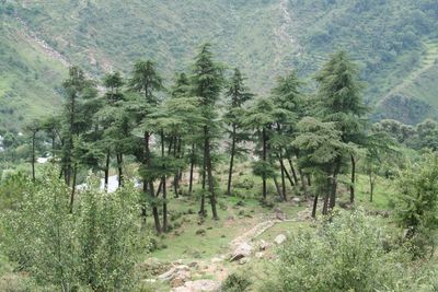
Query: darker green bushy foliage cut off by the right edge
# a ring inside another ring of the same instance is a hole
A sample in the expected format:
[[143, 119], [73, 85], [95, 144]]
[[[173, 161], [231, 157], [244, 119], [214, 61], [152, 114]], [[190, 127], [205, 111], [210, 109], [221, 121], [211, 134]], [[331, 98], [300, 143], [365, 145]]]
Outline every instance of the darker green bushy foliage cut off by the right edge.
[[425, 154], [397, 179], [396, 220], [405, 229], [414, 256], [424, 257], [436, 245], [438, 230], [438, 155]]

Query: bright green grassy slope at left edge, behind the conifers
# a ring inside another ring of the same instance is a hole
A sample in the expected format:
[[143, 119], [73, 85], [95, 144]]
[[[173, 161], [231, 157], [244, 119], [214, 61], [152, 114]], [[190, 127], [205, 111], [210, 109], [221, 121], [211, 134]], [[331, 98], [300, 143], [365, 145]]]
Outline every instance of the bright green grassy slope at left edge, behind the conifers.
[[0, 15], [0, 129], [51, 113], [65, 67], [23, 34], [21, 24]]

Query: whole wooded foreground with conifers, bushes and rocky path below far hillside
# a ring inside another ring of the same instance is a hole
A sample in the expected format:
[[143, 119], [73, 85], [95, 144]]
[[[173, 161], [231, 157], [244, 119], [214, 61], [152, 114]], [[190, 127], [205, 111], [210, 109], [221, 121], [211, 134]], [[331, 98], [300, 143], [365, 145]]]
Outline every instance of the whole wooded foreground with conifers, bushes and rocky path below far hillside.
[[170, 81], [70, 67], [2, 140], [1, 289], [435, 291], [438, 124], [372, 122], [359, 68], [257, 96], [210, 44]]

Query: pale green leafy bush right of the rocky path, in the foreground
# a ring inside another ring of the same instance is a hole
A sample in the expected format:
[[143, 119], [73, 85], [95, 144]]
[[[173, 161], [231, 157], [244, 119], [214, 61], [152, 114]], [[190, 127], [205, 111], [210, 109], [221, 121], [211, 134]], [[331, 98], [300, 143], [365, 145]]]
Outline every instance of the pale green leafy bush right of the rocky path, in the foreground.
[[367, 292], [395, 288], [403, 279], [400, 262], [404, 253], [388, 252], [388, 238], [378, 225], [361, 211], [343, 211], [316, 231], [301, 231], [279, 250], [275, 290]]

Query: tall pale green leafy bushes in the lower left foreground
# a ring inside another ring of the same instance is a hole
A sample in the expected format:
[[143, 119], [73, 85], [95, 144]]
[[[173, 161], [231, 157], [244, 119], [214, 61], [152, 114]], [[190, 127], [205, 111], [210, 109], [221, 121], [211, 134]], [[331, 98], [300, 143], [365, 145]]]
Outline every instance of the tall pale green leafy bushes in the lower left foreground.
[[89, 188], [69, 213], [70, 190], [55, 174], [27, 184], [15, 210], [3, 215], [5, 249], [19, 269], [58, 291], [129, 290], [138, 227], [136, 190]]

